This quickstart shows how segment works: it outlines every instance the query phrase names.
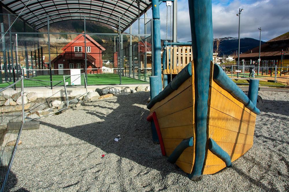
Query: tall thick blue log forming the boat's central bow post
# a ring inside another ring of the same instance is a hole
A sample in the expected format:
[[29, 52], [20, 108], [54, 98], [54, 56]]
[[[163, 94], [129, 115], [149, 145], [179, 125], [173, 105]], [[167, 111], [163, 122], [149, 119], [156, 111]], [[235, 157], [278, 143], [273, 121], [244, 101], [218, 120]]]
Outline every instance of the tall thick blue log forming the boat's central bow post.
[[213, 59], [212, 1], [188, 1], [195, 74], [195, 161], [191, 180], [200, 180], [207, 141], [210, 62]]

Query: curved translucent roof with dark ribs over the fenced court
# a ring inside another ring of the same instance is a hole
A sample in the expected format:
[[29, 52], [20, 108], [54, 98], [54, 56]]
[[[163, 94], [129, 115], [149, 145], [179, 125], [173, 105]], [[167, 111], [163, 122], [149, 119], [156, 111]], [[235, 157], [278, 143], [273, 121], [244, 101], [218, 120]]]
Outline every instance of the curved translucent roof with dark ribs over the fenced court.
[[139, 12], [142, 15], [151, 7], [149, 0], [0, 0], [0, 2], [12, 14], [20, 14], [24, 9], [21, 18], [36, 29], [47, 26], [49, 15], [49, 23], [86, 16], [87, 20], [95, 20], [115, 28], [118, 28], [118, 17], [123, 17], [120, 25], [123, 31], [138, 18]]

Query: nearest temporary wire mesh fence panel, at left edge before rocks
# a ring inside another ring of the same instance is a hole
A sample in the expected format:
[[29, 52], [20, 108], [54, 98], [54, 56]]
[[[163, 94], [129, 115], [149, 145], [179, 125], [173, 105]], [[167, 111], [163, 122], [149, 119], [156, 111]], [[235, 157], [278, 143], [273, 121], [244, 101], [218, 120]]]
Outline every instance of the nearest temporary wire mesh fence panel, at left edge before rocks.
[[[21, 86], [22, 85], [22, 86]], [[23, 78], [0, 90], [0, 182], [1, 191], [8, 180], [24, 123]]]

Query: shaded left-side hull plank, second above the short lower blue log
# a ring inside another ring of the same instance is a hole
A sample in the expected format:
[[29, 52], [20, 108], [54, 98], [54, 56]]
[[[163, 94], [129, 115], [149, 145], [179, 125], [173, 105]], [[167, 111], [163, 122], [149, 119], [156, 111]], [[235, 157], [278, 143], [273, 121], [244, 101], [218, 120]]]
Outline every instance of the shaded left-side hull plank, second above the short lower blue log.
[[169, 114], [162, 118], [158, 118], [160, 129], [166, 128], [166, 127], [192, 125], [193, 122], [194, 122], [193, 107], [188, 107], [186, 109]]

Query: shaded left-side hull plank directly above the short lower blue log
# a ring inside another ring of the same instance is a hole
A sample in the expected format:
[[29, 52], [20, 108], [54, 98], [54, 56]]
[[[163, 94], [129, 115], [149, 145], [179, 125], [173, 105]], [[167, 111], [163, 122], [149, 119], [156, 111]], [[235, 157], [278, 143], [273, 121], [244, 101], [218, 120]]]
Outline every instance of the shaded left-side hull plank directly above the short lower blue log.
[[194, 125], [168, 127], [160, 130], [162, 133], [162, 138], [186, 139], [194, 137]]

